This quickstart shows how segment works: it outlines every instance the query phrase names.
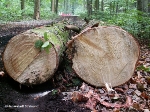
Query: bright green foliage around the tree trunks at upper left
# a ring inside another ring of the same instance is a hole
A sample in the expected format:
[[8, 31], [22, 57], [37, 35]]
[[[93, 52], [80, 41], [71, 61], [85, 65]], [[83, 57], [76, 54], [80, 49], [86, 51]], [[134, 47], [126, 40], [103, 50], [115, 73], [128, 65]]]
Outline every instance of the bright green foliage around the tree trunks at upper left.
[[[20, 0], [0, 0], [0, 21], [33, 20], [34, 0], [25, 1], [25, 9], [21, 10]], [[50, 10], [50, 1], [41, 1], [40, 19], [53, 19], [57, 15]]]

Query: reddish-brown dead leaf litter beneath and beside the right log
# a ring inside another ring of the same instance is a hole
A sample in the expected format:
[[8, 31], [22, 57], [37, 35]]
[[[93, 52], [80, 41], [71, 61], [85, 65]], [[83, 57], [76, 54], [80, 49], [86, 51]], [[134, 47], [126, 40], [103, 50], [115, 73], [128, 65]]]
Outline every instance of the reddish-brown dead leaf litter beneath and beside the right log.
[[[71, 77], [75, 76], [72, 74]], [[91, 112], [150, 112], [150, 50], [141, 47], [141, 56], [132, 78], [121, 86], [111, 88], [113, 91], [105, 87], [95, 88], [85, 82], [75, 87], [62, 91], [63, 100], [72, 100], [91, 109]]]

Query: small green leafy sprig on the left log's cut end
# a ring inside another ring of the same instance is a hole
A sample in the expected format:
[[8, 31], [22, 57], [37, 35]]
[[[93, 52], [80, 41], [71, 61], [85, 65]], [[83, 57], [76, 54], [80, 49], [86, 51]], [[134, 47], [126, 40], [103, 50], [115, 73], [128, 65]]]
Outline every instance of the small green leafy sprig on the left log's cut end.
[[47, 36], [47, 32], [44, 33], [44, 41], [43, 40], [37, 40], [35, 42], [35, 47], [40, 50], [45, 50], [47, 53], [49, 53], [49, 49], [52, 47], [52, 44], [49, 42], [49, 38]]

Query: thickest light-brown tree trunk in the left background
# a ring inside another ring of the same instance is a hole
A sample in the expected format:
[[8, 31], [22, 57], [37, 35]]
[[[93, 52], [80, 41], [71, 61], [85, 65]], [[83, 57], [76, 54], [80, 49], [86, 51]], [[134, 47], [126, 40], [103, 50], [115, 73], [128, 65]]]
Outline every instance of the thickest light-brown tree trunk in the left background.
[[34, 17], [33, 19], [40, 19], [40, 0], [34, 0]]

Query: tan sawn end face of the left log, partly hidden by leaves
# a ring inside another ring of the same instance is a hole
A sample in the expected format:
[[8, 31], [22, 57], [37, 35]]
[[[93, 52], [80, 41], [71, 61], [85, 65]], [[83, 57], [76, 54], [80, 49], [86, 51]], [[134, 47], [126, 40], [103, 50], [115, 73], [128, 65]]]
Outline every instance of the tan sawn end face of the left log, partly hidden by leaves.
[[49, 54], [34, 47], [35, 41], [39, 39], [41, 37], [35, 33], [25, 32], [13, 37], [5, 49], [5, 69], [21, 84], [43, 83], [58, 66], [54, 47], [50, 49]]

